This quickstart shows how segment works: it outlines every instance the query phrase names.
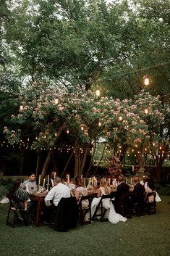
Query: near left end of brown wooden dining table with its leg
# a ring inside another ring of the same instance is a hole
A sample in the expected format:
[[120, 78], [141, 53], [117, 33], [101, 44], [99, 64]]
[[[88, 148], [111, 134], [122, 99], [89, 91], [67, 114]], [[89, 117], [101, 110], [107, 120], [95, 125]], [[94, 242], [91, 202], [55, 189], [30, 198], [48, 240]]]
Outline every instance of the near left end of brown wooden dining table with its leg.
[[30, 199], [37, 202], [37, 211], [36, 211], [36, 217], [35, 217], [35, 227], [40, 226], [41, 222], [41, 205], [44, 202], [44, 199], [46, 197], [46, 193], [43, 192], [34, 192], [30, 194]]

